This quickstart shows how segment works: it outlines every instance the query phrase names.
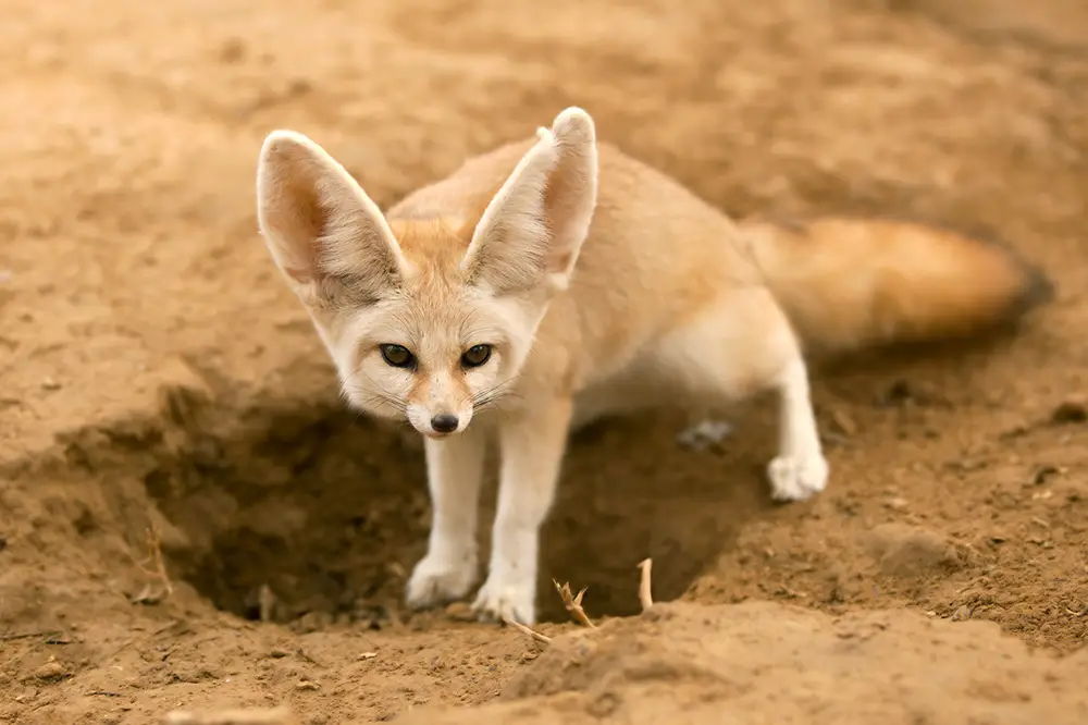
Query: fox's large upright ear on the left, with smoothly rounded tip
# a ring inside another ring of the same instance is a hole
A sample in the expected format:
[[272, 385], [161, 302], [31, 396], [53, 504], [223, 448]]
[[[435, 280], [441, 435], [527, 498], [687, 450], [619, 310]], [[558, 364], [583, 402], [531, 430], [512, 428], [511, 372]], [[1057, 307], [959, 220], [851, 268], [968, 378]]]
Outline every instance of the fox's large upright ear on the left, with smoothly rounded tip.
[[294, 284], [320, 294], [331, 279], [376, 299], [408, 269], [388, 223], [324, 149], [292, 131], [264, 139], [257, 219], [272, 258]]

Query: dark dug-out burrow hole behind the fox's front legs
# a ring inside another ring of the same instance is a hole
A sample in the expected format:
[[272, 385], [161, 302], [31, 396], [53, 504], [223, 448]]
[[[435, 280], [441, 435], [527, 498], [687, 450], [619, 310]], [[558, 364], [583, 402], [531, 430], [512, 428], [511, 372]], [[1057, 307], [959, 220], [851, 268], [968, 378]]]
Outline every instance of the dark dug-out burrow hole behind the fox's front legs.
[[[646, 556], [656, 598], [679, 597], [768, 505], [759, 475], [767, 452], [684, 451], [675, 442], [680, 426], [609, 421], [571, 441], [544, 531], [542, 619], [568, 617], [553, 578], [589, 586], [594, 616], [636, 613], [636, 564]], [[772, 440], [768, 431], [744, 438]], [[403, 591], [425, 549], [430, 504], [422, 454], [396, 431], [332, 397], [226, 404], [178, 389], [158, 418], [92, 439], [111, 453], [88, 451], [88, 437], [76, 434], [70, 457], [86, 466], [97, 456], [98, 474], [112, 462], [112, 474], [96, 476], [102, 486], [139, 477], [165, 520], [171, 570], [218, 609], [316, 627], [412, 616]], [[484, 562], [493, 479], [481, 511]]]

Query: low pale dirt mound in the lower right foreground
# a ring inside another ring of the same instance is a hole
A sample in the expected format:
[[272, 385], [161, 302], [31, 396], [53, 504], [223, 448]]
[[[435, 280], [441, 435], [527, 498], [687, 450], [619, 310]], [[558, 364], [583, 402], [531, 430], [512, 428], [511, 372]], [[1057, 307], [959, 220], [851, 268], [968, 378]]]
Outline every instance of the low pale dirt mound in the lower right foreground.
[[[648, 620], [648, 622], [647, 622]], [[1081, 722], [1085, 653], [1030, 653], [992, 624], [794, 606], [658, 605], [557, 640], [507, 685], [496, 722]], [[559, 697], [557, 697], [559, 696]], [[561, 697], [567, 696], [567, 697]], [[548, 697], [529, 714], [527, 698]], [[463, 715], [448, 721], [467, 722]], [[423, 722], [420, 720], [419, 722]]]

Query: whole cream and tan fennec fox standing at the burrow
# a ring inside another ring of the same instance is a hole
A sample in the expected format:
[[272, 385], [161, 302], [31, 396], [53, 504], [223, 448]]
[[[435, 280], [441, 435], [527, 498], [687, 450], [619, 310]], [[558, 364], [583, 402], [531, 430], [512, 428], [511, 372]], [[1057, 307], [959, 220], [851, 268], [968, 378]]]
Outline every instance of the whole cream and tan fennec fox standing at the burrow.
[[[743, 230], [596, 140], [578, 108], [386, 213], [307, 137], [260, 152], [258, 218], [357, 408], [425, 437], [434, 508], [417, 607], [478, 581], [485, 445], [502, 458], [481, 618], [532, 624], [539, 529], [571, 427], [777, 391], [777, 500], [821, 491], [802, 342], [849, 349], [969, 333], [1046, 286], [1011, 254], [908, 224]], [[1040, 286], [1041, 285], [1041, 286]]]

